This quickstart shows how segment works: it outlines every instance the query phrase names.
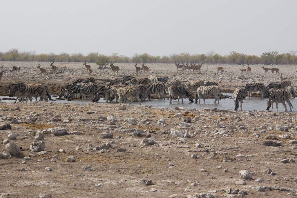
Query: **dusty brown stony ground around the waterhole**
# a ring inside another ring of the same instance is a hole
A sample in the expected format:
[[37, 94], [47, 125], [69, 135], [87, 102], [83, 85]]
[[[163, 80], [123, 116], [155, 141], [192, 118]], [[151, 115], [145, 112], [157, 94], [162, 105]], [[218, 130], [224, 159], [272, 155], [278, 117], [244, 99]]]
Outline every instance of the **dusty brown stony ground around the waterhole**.
[[[4, 69], [8, 69], [9, 64], [18, 65], [12, 62], [3, 64]], [[58, 63], [58, 67], [67, 66], [67, 72], [57, 74], [55, 78], [48, 75], [46, 80], [40, 79], [39, 73], [36, 73], [36, 63], [22, 64], [24, 68], [18, 76], [13, 77], [11, 72], [4, 75], [1, 95], [7, 95], [5, 87], [10, 83], [33, 80], [47, 84], [52, 94], [58, 94], [57, 87], [78, 77], [88, 77], [84, 66], [77, 63]], [[119, 66], [124, 68], [122, 74], [134, 73], [132, 64]], [[203, 65], [202, 74], [177, 73], [174, 65], [169, 64], [148, 66], [151, 66], [151, 73], [168, 75], [171, 79], [220, 81], [223, 89], [245, 85], [250, 79], [265, 84], [279, 80], [277, 75], [264, 75], [260, 66], [251, 66], [251, 75], [241, 75], [240, 67], [231, 65], [224, 66], [226, 72], [219, 75], [215, 65]], [[91, 67], [96, 68], [94, 65]], [[49, 70], [48, 66], [45, 68]], [[283, 66], [280, 72], [283, 77], [292, 77], [292, 83], [296, 85], [294, 69]], [[93, 69], [93, 74], [98, 79], [111, 78], [110, 70]], [[281, 160], [296, 159], [297, 145], [289, 141], [297, 139], [297, 113], [196, 110], [184, 109], [182, 104], [176, 110], [146, 107], [145, 102], [142, 104], [126, 104], [126, 110], [119, 110], [122, 104], [115, 103], [69, 103], [57, 107], [54, 102], [0, 102], [0, 122], [9, 123], [12, 127], [0, 131], [0, 140], [2, 142], [8, 134], [16, 133], [18, 137], [10, 142], [22, 151], [21, 155], [0, 159], [1, 197], [39, 197], [40, 194], [45, 197], [191, 197], [195, 194], [201, 197], [202, 193], [206, 193], [206, 197], [241, 197], [243, 194], [247, 197], [286, 197], [287, 193], [296, 194], [296, 162], [282, 163]], [[15, 107], [20, 109], [14, 110]], [[88, 112], [90, 110], [94, 112]], [[174, 117], [177, 113], [181, 113], [181, 117]], [[110, 114], [116, 120], [106, 121]], [[191, 122], [182, 122], [184, 116], [192, 118]], [[59, 119], [53, 121], [54, 118]], [[134, 118], [135, 121], [125, 121], [125, 118]], [[161, 118], [164, 118], [165, 125], [157, 123]], [[70, 121], [65, 123], [64, 120]], [[288, 126], [288, 131], [276, 131], [277, 125]], [[66, 128], [67, 133], [60, 136], [45, 134], [47, 154], [41, 156], [30, 151], [37, 132], [56, 126]], [[133, 128], [143, 130], [142, 137], [140, 134], [131, 136], [128, 129], [135, 132]], [[186, 133], [186, 137], [173, 137], [170, 134], [172, 129]], [[73, 134], [73, 131], [80, 134]], [[102, 139], [102, 132], [112, 132], [113, 137]], [[284, 134], [290, 138], [279, 137]], [[146, 135], [151, 136], [157, 145], [141, 145]], [[264, 146], [264, 140], [279, 140], [282, 146]], [[94, 150], [105, 143], [112, 145], [112, 148], [106, 149], [108, 152]], [[118, 152], [116, 146], [126, 151]], [[77, 147], [82, 149], [76, 150]], [[1, 144], [1, 152], [3, 148]], [[65, 153], [60, 153], [60, 149], [64, 149]], [[60, 159], [54, 161], [56, 154]], [[197, 157], [192, 159], [192, 154]], [[32, 160], [20, 164], [24, 157], [29, 156]], [[68, 156], [75, 156], [76, 161], [67, 162]], [[169, 166], [169, 163], [174, 166]], [[83, 170], [83, 166], [91, 166], [93, 171]], [[45, 167], [51, 167], [53, 171], [46, 171]], [[265, 173], [268, 168], [276, 175]], [[252, 174], [251, 180], [241, 181], [245, 184], [238, 183], [242, 180], [239, 175], [241, 170]], [[151, 179], [152, 185], [143, 185], [140, 182], [143, 178]], [[259, 178], [263, 180], [257, 180]], [[95, 186], [97, 184], [101, 186]]]

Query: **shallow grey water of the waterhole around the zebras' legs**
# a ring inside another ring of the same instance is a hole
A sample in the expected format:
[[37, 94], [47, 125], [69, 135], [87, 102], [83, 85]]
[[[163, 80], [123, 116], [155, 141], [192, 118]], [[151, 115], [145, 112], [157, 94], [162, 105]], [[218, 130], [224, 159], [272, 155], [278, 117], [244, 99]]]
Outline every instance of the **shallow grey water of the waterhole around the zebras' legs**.
[[[181, 100], [179, 103], [177, 103], [177, 100], [172, 100], [172, 104], [169, 104], [169, 100], [157, 100], [157, 99], [152, 99], [151, 101], [145, 101], [141, 102], [141, 105], [150, 105], [152, 107], [168, 107], [168, 108], [174, 108], [174, 107], [184, 107], [184, 108], [193, 108], [193, 109], [213, 109], [213, 108], [219, 108], [219, 109], [226, 109], [226, 110], [234, 110], [234, 102], [233, 102], [233, 97], [232, 94], [227, 94], [224, 93], [224, 95], [228, 95], [230, 98], [225, 98], [220, 101], [220, 104], [214, 104], [214, 99], [206, 99], [206, 103], [203, 103], [203, 99], [201, 99], [200, 104], [198, 103], [191, 103], [188, 99], [184, 99], [184, 103], [181, 104]], [[0, 96], [0, 98], [10, 98], [7, 96]], [[16, 98], [16, 97], [12, 97]], [[38, 99], [37, 99], [38, 100]], [[34, 101], [34, 99], [33, 99]], [[195, 100], [194, 100], [195, 101]], [[2, 102], [14, 102], [14, 100], [3, 100]], [[72, 101], [67, 101], [67, 100], [56, 100], [56, 101], [50, 101], [50, 102], [55, 102], [55, 103], [77, 103], [77, 104], [87, 104], [92, 102], [91, 100], [82, 100], [82, 99], [76, 99]], [[99, 103], [104, 103], [105, 100], [102, 98], [98, 101]], [[290, 102], [293, 105], [292, 111], [297, 112], [297, 99], [290, 99]], [[266, 111], [266, 103], [267, 101], [265, 99], [261, 98], [252, 98], [248, 99], [246, 98], [244, 100], [244, 103], [242, 104], [242, 110], [243, 111]], [[128, 103], [129, 104], [129, 103]], [[132, 103], [132, 105], [139, 105], [138, 102]], [[240, 107], [239, 107], [240, 110]], [[276, 105], [274, 103], [274, 111], [276, 111]], [[285, 111], [285, 107], [282, 104], [278, 105], [278, 110], [279, 111]], [[287, 105], [287, 110], [290, 111], [289, 106]]]

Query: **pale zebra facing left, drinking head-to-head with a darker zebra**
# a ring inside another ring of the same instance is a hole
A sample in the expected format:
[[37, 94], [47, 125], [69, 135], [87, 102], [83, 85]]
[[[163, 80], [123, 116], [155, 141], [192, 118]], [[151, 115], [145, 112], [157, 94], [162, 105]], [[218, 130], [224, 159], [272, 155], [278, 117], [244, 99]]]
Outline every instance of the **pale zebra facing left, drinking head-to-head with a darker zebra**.
[[219, 86], [215, 86], [215, 85], [200, 86], [198, 87], [195, 93], [195, 102], [197, 103], [197, 100], [199, 97], [199, 104], [200, 104], [200, 99], [202, 96], [203, 96], [204, 103], [205, 103], [205, 97], [214, 96], [214, 104], [216, 104], [217, 100], [218, 100], [218, 104], [220, 104], [220, 99], [222, 100], [222, 91]]

